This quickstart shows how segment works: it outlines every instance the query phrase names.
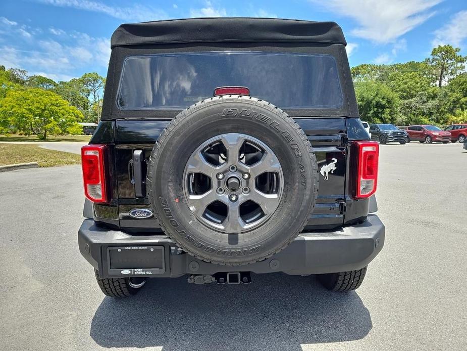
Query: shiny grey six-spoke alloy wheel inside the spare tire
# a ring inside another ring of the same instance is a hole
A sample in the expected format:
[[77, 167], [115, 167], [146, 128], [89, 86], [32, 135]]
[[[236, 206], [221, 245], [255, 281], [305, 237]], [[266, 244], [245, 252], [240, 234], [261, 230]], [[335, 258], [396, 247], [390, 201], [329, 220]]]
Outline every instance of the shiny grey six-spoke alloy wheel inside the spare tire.
[[225, 233], [261, 226], [279, 206], [283, 171], [260, 140], [228, 133], [202, 143], [185, 166], [188, 207], [205, 225]]

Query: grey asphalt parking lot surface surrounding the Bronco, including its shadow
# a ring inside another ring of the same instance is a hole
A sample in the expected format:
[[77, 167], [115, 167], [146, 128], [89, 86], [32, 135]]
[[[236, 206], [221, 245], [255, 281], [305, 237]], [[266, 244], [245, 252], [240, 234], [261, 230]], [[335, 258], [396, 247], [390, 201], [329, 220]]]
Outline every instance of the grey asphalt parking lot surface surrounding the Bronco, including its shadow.
[[77, 247], [80, 166], [0, 173], [0, 349], [465, 350], [467, 152], [381, 146], [383, 251], [356, 292], [310, 277], [153, 279], [102, 295]]

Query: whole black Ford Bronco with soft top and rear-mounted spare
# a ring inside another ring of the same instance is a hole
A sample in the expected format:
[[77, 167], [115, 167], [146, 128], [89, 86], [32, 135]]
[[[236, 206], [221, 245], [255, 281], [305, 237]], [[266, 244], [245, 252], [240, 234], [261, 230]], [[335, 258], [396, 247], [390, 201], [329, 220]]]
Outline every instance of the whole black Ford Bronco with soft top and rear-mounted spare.
[[358, 288], [384, 244], [379, 145], [333, 22], [121, 25], [82, 148], [81, 254], [108, 296], [149, 278], [317, 275]]

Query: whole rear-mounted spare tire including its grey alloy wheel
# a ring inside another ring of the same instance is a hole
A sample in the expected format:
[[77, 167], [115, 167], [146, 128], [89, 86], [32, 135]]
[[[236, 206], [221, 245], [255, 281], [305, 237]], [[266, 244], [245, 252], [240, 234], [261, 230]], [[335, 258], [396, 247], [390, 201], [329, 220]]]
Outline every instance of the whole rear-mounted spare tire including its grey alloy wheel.
[[148, 198], [161, 228], [206, 262], [243, 265], [286, 247], [318, 194], [312, 146], [255, 98], [220, 96], [180, 112], [152, 149]]

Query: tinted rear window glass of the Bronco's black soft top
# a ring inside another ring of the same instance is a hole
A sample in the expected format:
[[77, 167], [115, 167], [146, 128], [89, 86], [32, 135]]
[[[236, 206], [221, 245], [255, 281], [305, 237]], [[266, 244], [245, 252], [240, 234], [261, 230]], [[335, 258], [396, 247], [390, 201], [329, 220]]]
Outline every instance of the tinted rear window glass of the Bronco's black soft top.
[[247, 51], [130, 56], [117, 96], [123, 110], [184, 109], [219, 86], [246, 86], [282, 109], [339, 108], [337, 64], [330, 55]]

